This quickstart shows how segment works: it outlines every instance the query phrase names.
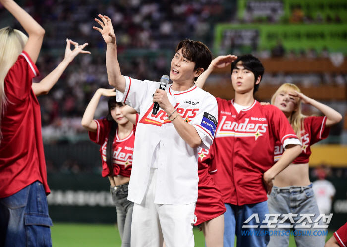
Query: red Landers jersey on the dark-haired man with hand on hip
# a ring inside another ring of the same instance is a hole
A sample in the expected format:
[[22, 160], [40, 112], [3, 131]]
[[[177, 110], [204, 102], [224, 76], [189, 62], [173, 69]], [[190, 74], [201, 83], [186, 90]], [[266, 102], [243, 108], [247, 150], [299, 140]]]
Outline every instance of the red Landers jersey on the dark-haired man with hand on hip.
[[274, 164], [275, 140], [296, 138], [277, 107], [256, 100], [237, 113], [233, 100], [217, 98], [219, 117], [213, 142], [218, 173], [213, 180], [224, 203], [244, 205], [267, 200], [263, 174]]

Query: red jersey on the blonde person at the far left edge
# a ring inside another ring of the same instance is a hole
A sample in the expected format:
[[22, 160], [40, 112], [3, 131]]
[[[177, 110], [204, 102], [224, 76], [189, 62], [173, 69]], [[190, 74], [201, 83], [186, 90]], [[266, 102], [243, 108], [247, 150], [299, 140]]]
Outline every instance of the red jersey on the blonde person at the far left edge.
[[5, 77], [7, 108], [1, 120], [0, 198], [13, 195], [37, 180], [50, 193], [40, 105], [31, 89], [32, 79], [37, 75], [35, 63], [23, 51]]

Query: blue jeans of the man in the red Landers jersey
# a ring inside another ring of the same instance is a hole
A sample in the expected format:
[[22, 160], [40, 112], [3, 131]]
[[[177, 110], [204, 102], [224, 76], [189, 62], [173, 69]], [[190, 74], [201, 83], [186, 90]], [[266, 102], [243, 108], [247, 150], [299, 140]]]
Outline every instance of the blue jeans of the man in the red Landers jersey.
[[[268, 204], [266, 201], [246, 204], [242, 206], [232, 205], [225, 203], [227, 212], [224, 213], [224, 247], [234, 247], [235, 234], [237, 237], [237, 247], [266, 247], [269, 243], [269, 234], [242, 234], [251, 231], [268, 231], [268, 228], [259, 228], [264, 225], [262, 222], [265, 220], [265, 214], [269, 213]], [[248, 223], [244, 223], [253, 214], [258, 214], [259, 222], [252, 218]], [[242, 228], [242, 225], [257, 225], [258, 228]], [[266, 224], [265, 224], [266, 225]]]

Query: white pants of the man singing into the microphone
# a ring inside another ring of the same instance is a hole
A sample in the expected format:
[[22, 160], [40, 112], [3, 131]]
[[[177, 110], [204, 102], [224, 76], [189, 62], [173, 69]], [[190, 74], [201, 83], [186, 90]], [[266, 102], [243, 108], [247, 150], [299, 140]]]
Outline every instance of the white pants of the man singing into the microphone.
[[131, 247], [194, 247], [195, 202], [188, 205], [155, 204], [157, 169], [151, 169], [145, 198], [134, 203]]

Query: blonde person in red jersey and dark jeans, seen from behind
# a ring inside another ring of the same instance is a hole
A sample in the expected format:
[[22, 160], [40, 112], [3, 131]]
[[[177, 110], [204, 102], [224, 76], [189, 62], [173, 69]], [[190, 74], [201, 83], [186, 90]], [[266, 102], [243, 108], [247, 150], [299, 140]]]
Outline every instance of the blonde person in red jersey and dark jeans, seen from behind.
[[0, 247], [50, 247], [40, 105], [31, 88], [45, 30], [13, 0], [0, 3], [29, 36], [0, 29]]

